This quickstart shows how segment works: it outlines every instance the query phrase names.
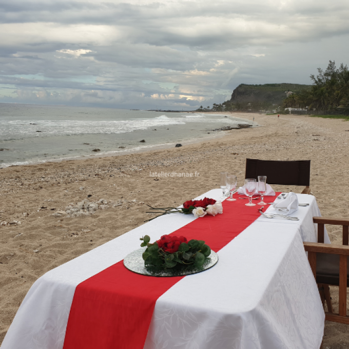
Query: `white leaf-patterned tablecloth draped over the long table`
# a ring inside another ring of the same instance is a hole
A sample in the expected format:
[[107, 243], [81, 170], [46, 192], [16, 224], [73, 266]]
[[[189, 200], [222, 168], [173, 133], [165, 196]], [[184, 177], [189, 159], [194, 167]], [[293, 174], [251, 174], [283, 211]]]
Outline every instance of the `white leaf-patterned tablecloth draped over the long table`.
[[[198, 199], [220, 195], [213, 189]], [[302, 241], [317, 241], [312, 217], [320, 211], [315, 197], [298, 198], [310, 204], [293, 214], [299, 221], [258, 218], [219, 251], [215, 267], [165, 292], [144, 349], [318, 349], [324, 312]], [[159, 239], [193, 219], [157, 218], [46, 273], [30, 288], [1, 348], [62, 349], [79, 283], [122, 260], [140, 236]]]

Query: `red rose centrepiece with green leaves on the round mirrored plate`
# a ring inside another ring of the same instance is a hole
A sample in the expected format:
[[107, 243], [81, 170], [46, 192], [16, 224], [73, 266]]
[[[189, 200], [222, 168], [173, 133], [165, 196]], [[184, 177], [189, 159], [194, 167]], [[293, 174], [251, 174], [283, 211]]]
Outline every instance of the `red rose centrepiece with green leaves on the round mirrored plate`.
[[150, 243], [146, 235], [140, 239], [141, 246], [147, 246], [142, 257], [146, 266], [159, 269], [183, 268], [189, 265], [201, 267], [211, 249], [203, 240], [189, 240], [184, 236], [163, 235], [160, 240]]

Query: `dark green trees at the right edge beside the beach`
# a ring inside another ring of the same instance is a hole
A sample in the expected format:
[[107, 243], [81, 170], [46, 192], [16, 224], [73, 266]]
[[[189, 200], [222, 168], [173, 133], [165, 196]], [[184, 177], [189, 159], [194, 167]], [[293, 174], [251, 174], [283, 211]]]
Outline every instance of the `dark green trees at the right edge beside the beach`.
[[317, 76], [311, 75], [313, 85], [290, 94], [283, 101], [284, 108], [308, 108], [308, 110], [348, 110], [349, 70], [347, 66], [336, 68], [329, 61], [325, 71], [318, 68]]

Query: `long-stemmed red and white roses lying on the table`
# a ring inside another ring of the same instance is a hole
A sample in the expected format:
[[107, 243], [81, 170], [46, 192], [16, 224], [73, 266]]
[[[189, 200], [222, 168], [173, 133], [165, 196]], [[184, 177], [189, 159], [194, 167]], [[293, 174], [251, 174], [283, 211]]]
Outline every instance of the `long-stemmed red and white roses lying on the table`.
[[[180, 213], [180, 214], [193, 214], [197, 217], [204, 217], [205, 215], [216, 216], [217, 214], [223, 213], [223, 206], [220, 201], [216, 201], [215, 199], [204, 198], [202, 200], [189, 200], [183, 204], [183, 207], [162, 207], [162, 208], [154, 208], [148, 205], [150, 209], [157, 210], [157, 212], [146, 212], [148, 214], [161, 214], [159, 216], [163, 216], [166, 214]], [[157, 216], [157, 217], [159, 217]], [[154, 217], [154, 218], [157, 218]], [[151, 221], [152, 219], [148, 219], [147, 221]]]

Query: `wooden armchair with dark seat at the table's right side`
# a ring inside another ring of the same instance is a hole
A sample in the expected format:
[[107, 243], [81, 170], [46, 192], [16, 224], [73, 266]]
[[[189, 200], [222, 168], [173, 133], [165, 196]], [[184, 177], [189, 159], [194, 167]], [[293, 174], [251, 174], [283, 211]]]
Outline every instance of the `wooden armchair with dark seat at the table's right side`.
[[[346, 288], [349, 287], [349, 246], [348, 227], [349, 219], [314, 217], [318, 224], [318, 242], [304, 242], [308, 253], [308, 260], [314, 277], [319, 286], [322, 304], [326, 301], [328, 312], [325, 319], [328, 321], [349, 324], [346, 316]], [[324, 224], [343, 226], [343, 245], [324, 244]], [[339, 313], [334, 314], [328, 285], [339, 286]]]

